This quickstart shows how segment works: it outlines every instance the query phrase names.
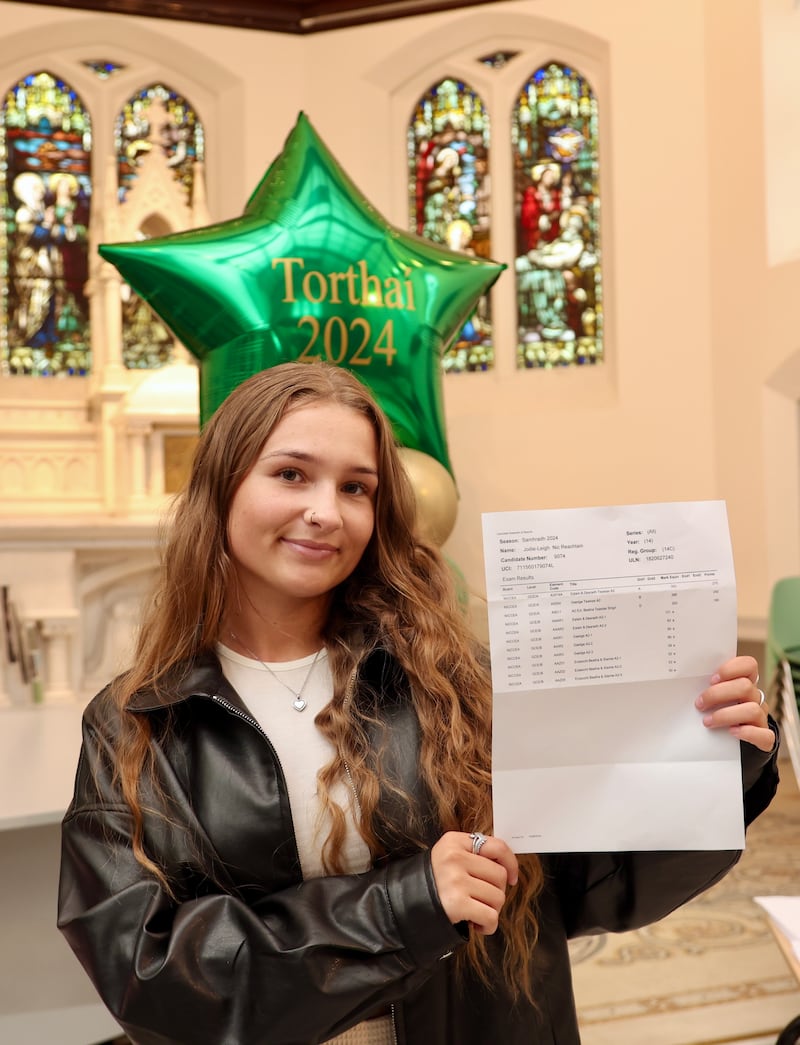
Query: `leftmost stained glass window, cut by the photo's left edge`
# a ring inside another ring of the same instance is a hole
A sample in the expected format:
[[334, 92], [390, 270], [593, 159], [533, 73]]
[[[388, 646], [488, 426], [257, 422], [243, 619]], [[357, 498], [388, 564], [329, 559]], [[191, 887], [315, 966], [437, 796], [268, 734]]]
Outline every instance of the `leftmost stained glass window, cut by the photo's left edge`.
[[0, 362], [9, 374], [91, 369], [91, 121], [49, 72], [18, 80], [0, 111]]

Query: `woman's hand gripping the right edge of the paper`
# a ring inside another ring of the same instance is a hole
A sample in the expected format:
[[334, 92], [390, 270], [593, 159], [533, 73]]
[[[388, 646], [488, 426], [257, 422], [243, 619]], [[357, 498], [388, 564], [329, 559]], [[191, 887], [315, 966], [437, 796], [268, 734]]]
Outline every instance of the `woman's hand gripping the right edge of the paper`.
[[709, 729], [728, 729], [760, 751], [771, 751], [775, 734], [768, 724], [767, 704], [758, 689], [758, 665], [752, 656], [734, 656], [711, 677], [695, 701]]

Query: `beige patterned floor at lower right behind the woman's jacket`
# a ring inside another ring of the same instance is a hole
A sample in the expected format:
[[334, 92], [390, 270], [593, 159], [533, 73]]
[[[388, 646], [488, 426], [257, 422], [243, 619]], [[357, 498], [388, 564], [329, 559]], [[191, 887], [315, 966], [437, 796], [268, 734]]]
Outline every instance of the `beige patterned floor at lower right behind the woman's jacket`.
[[800, 893], [800, 793], [787, 761], [770, 809], [719, 885], [656, 925], [577, 940], [583, 1045], [774, 1043], [800, 1014], [792, 975], [754, 896]]

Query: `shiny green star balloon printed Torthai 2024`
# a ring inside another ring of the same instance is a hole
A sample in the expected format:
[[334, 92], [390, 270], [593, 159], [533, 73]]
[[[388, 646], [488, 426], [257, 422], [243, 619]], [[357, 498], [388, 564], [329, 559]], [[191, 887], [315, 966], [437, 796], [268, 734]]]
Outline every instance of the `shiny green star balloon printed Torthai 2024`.
[[99, 251], [199, 361], [202, 423], [251, 374], [324, 359], [452, 472], [442, 352], [505, 265], [390, 225], [303, 113], [240, 217]]

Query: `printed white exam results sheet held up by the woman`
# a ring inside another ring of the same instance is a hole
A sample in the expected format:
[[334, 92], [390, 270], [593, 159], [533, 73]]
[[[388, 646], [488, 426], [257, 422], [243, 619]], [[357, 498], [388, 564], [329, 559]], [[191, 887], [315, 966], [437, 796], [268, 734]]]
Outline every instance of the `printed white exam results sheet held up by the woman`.
[[695, 707], [736, 650], [725, 504], [483, 524], [494, 833], [517, 853], [743, 849], [738, 741]]

